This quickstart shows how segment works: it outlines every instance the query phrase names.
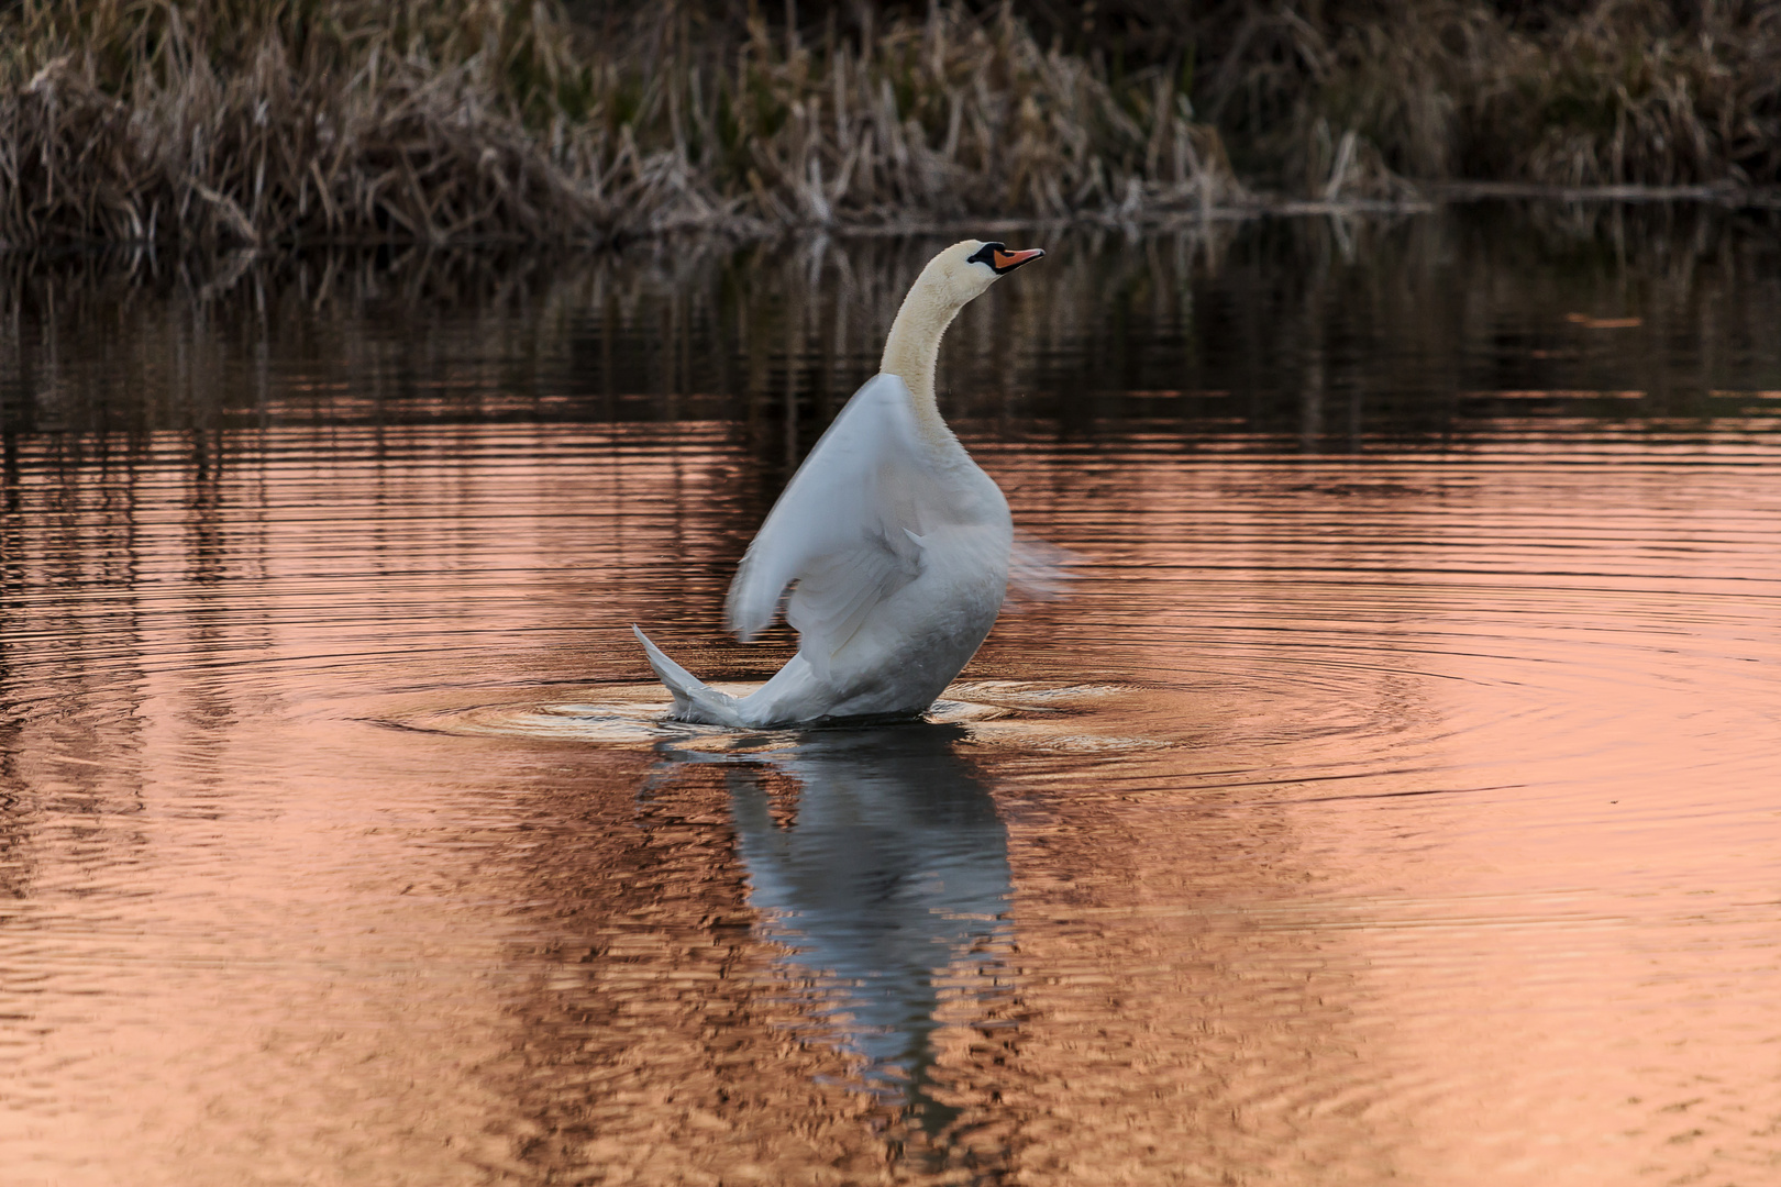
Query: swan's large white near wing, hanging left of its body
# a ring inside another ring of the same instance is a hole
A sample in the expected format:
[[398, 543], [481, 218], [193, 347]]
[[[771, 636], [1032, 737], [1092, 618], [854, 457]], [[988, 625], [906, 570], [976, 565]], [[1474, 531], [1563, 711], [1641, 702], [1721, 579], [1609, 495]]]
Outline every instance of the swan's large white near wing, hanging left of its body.
[[855, 392], [748, 546], [730, 584], [730, 630], [752, 639], [798, 582], [787, 619], [819, 664], [914, 580], [935, 498], [921, 445], [901, 377], [878, 375]]

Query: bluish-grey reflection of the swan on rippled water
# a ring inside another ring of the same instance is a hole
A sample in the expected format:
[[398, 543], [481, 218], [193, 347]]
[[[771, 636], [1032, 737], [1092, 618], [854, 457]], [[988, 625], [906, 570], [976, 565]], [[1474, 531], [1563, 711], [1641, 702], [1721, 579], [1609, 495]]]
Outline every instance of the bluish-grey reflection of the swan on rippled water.
[[981, 1023], [1006, 988], [1008, 831], [956, 726], [821, 730], [734, 763], [730, 806], [760, 927], [816, 975], [826, 1021], [923, 1128], [937, 1030]]

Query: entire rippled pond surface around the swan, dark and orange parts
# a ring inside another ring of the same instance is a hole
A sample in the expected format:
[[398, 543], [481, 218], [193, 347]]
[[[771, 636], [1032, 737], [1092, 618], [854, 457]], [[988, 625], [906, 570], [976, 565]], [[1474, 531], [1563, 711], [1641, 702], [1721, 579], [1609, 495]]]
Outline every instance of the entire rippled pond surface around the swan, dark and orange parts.
[[1774, 1180], [1776, 244], [1047, 235], [942, 388], [1072, 594], [759, 735], [629, 623], [782, 662], [933, 244], [11, 260], [0, 1182]]

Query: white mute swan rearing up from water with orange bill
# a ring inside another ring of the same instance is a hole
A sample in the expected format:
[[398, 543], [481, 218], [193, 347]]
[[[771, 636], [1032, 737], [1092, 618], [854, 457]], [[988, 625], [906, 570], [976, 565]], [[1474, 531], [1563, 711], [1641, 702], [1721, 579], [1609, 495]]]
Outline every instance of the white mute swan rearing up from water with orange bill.
[[953, 244], [903, 297], [878, 375], [853, 393], [748, 546], [725, 609], [746, 642], [778, 614], [798, 655], [750, 696], [707, 687], [638, 628], [673, 717], [789, 726], [914, 717], [990, 634], [1008, 589], [1008, 500], [940, 420], [940, 335], [999, 276], [1038, 260], [974, 238]]

